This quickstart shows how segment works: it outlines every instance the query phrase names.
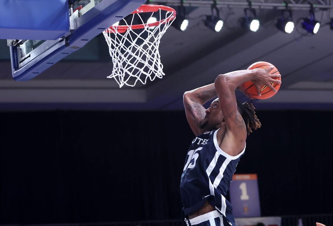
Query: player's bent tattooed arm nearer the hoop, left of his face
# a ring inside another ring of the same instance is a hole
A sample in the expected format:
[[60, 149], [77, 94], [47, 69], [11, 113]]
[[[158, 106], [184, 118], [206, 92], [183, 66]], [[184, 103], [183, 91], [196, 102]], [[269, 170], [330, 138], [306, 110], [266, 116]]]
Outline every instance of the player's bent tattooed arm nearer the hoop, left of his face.
[[213, 83], [186, 91], [183, 95], [186, 118], [196, 136], [204, 132], [200, 129], [201, 122], [205, 117], [203, 104], [214, 97], [216, 97], [216, 91]]

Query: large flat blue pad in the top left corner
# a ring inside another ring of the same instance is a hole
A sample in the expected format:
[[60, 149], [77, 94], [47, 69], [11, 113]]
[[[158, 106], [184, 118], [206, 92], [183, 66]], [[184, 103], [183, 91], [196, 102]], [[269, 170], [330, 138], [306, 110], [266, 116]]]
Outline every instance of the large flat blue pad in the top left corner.
[[0, 39], [56, 40], [69, 31], [68, 0], [0, 0]]

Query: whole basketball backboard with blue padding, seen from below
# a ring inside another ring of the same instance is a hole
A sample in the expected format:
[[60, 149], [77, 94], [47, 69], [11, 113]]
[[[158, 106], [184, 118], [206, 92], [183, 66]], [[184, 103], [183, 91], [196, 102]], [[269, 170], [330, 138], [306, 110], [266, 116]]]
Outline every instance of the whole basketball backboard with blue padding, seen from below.
[[0, 38], [7, 39], [12, 75], [16, 81], [36, 77], [132, 13], [146, 0], [52, 2], [52, 7], [48, 5], [42, 8], [43, 0], [3, 4], [1, 11], [15, 11], [15, 20], [0, 18], [1, 21], [6, 21], [0, 23]]

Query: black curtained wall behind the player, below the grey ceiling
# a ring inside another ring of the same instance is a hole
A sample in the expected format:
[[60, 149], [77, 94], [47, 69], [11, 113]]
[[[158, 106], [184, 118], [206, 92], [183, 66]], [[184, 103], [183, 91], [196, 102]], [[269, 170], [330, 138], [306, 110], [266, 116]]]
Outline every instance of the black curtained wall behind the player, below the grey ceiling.
[[[258, 174], [263, 216], [333, 212], [332, 113], [257, 112], [236, 173]], [[180, 219], [184, 112], [0, 117], [0, 224]]]

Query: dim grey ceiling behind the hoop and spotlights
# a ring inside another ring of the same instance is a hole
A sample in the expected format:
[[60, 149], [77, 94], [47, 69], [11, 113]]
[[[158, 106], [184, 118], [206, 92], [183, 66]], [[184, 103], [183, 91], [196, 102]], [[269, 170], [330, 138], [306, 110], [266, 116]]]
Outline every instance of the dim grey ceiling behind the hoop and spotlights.
[[[179, 1], [150, 2], [175, 9], [179, 5]], [[0, 40], [0, 109], [182, 110], [184, 91], [212, 83], [221, 73], [246, 69], [256, 61], [268, 61], [279, 69], [282, 84], [272, 98], [255, 100], [257, 109], [333, 110], [333, 30], [327, 23], [333, 17], [332, 1], [313, 2], [328, 6], [326, 10], [315, 10], [316, 19], [322, 22], [316, 35], [300, 28], [299, 19], [309, 15], [308, 9], [293, 10], [296, 30], [285, 34], [275, 27], [280, 10], [264, 7], [265, 3], [281, 2], [253, 2], [258, 4], [253, 8], [261, 21], [256, 33], [239, 25], [244, 7], [220, 6], [225, 24], [221, 32], [215, 33], [203, 23], [205, 15], [211, 14], [209, 4], [187, 4], [189, 28], [181, 32], [171, 26], [161, 40], [160, 54], [166, 75], [135, 87], [119, 88], [114, 79], [107, 78], [112, 61], [102, 35], [25, 82], [13, 80], [9, 47], [6, 40]], [[246, 100], [238, 92], [237, 96]]]

